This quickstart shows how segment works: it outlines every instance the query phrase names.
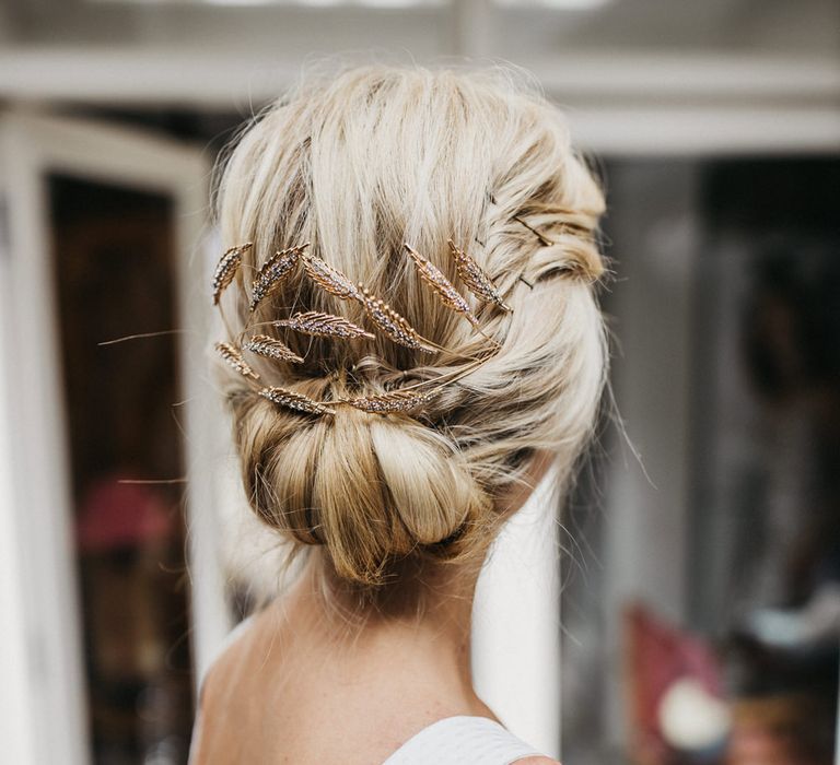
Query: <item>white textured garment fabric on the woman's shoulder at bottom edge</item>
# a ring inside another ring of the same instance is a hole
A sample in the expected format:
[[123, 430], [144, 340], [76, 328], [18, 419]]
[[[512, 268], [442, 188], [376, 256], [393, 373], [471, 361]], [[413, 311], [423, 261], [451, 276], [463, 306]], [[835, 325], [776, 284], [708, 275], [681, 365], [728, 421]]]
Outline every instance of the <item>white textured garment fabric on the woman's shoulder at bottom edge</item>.
[[447, 717], [411, 737], [383, 765], [510, 765], [539, 752], [489, 717]]

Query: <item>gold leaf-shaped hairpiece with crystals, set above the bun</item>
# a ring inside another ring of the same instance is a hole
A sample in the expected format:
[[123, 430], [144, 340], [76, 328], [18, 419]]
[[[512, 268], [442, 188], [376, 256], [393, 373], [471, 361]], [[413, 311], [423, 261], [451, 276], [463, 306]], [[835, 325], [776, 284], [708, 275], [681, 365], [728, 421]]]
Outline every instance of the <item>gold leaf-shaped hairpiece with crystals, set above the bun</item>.
[[[545, 244], [545, 237], [530, 226], [527, 227], [534, 231], [540, 242]], [[448, 246], [458, 279], [464, 286], [480, 302], [504, 311], [512, 311], [513, 308], [502, 299], [490, 275], [476, 260], [464, 249], [458, 248], [452, 239], [448, 240]], [[252, 243], [245, 243], [230, 248], [222, 255], [212, 282], [213, 304], [220, 306], [220, 309], [222, 293], [236, 279], [242, 268], [242, 256], [252, 247]], [[362, 282], [354, 282], [337, 268], [308, 252], [308, 247], [310, 243], [289, 247], [275, 252], [275, 255], [266, 260], [252, 281], [248, 302], [248, 310], [252, 317], [260, 303], [295, 273], [299, 267], [302, 267], [304, 275], [315, 286], [339, 299], [358, 303], [362, 307], [368, 320], [373, 325], [372, 329], [375, 328], [381, 334], [384, 334], [393, 342], [424, 353], [447, 351], [447, 349], [423, 338], [405, 317], [400, 316], [383, 299], [372, 294]], [[471, 356], [469, 363], [464, 365], [464, 367], [455, 370], [454, 374], [444, 374], [438, 379], [423, 380], [382, 393], [325, 401], [317, 401], [289, 388], [264, 385], [259, 375], [246, 361], [244, 352], [282, 363], [302, 363], [304, 358], [292, 351], [282, 340], [267, 334], [252, 334], [241, 346], [231, 342], [217, 343], [217, 352], [231, 368], [255, 387], [259, 396], [279, 407], [298, 413], [329, 415], [335, 412], [336, 407], [342, 404], [374, 414], [410, 413], [428, 404], [445, 385], [457, 381], [457, 379], [494, 356], [501, 349], [501, 343], [482, 331], [478, 318], [464, 295], [434, 263], [408, 243], [404, 244], [404, 248], [421, 281], [434, 292], [439, 301], [453, 313], [463, 316], [477, 332], [490, 341], [489, 352], [481, 356]], [[338, 340], [373, 340], [377, 337], [373, 331], [342, 316], [315, 310], [296, 313], [284, 319], [262, 323], [303, 334]], [[254, 326], [249, 319], [240, 338], [244, 338]], [[434, 387], [423, 387], [434, 382], [438, 384]]]

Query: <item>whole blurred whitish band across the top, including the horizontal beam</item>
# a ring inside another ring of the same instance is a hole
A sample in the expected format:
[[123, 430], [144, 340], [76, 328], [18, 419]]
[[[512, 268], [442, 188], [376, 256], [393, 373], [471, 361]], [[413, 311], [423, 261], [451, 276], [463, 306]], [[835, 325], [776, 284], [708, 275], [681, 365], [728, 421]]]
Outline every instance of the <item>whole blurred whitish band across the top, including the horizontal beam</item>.
[[840, 146], [837, 0], [0, 0], [0, 104], [246, 115], [337, 54], [524, 67], [594, 145]]

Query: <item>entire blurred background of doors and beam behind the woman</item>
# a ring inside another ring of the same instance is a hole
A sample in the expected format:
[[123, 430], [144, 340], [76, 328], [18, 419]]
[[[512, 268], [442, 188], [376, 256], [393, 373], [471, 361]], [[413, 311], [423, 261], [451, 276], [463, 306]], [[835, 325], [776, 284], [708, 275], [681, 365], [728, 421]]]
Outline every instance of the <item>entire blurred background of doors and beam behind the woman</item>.
[[836, 0], [4, 0], [0, 758], [186, 762], [282, 554], [206, 373], [210, 168], [346, 51], [527, 68], [607, 191], [618, 415], [482, 585], [491, 706], [564, 765], [840, 762]]

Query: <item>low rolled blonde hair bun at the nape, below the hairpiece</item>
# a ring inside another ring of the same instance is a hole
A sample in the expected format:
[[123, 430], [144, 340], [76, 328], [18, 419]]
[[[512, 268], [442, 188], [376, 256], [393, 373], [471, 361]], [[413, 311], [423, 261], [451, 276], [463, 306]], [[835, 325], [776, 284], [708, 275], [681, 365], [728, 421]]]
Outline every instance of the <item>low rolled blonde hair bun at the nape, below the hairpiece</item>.
[[455, 446], [409, 416], [346, 408], [302, 422], [256, 396], [234, 414], [254, 511], [323, 545], [345, 581], [383, 584], [408, 557], [460, 560], [492, 522], [492, 501]]

